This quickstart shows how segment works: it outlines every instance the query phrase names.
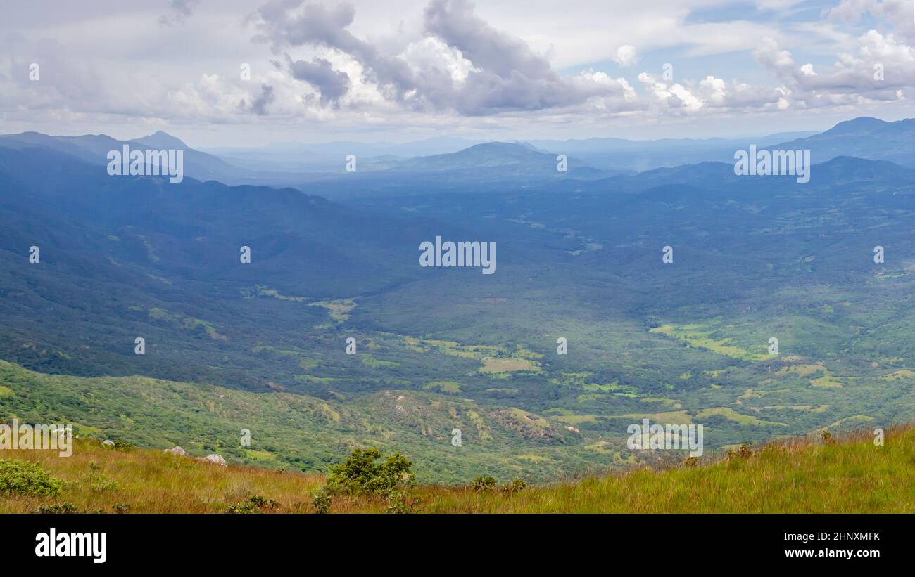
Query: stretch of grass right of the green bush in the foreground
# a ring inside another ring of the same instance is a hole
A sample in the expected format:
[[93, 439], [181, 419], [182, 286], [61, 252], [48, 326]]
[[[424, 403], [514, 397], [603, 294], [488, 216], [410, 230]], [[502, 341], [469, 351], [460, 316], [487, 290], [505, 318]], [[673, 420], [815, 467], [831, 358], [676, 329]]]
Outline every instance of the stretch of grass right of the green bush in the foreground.
[[640, 470], [512, 496], [427, 489], [430, 512], [864, 513], [915, 512], [915, 429], [823, 443], [794, 439], [705, 467]]

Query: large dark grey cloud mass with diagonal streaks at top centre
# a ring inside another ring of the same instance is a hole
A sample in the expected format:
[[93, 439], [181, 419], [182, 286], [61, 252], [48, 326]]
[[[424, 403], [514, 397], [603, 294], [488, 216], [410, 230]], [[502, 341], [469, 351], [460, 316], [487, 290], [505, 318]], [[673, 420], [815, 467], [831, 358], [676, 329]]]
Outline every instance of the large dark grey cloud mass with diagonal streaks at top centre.
[[[425, 8], [425, 35], [457, 49], [473, 65], [467, 78], [457, 82], [447, 69], [411, 68], [404, 58], [382, 54], [353, 36], [347, 29], [355, 16], [352, 5], [326, 7], [303, 0], [271, 0], [261, 6], [258, 16], [255, 41], [269, 43], [274, 50], [301, 46], [339, 50], [361, 64], [364, 79], [376, 84], [385, 98], [414, 110], [457, 110], [476, 116], [575, 105], [596, 96], [618, 96], [622, 91], [613, 82], [560, 77], [522, 39], [477, 16], [468, 0], [432, 0]], [[290, 73], [320, 90], [322, 101], [336, 102], [349, 89], [349, 77], [344, 82], [327, 61], [293, 62], [289, 58], [289, 62]]]

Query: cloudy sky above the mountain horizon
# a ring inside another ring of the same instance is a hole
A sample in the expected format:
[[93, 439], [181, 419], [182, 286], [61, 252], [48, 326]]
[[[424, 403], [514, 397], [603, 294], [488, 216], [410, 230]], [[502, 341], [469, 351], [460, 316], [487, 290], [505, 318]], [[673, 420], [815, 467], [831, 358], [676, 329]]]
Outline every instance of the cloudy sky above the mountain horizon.
[[915, 0], [30, 0], [0, 133], [709, 138], [915, 117]]

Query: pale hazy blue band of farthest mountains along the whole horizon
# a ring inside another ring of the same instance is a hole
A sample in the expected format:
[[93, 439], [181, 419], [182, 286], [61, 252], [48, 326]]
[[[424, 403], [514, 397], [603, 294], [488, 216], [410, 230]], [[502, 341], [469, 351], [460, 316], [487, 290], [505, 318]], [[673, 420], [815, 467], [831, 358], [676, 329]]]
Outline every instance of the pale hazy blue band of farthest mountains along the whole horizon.
[[[480, 142], [436, 138], [418, 142], [286, 142], [254, 149], [214, 149], [221, 155], [191, 149], [164, 131], [134, 141], [141, 150], [181, 148], [185, 171], [201, 181], [225, 184], [295, 185], [328, 197], [361, 196], [367, 189], [401, 190], [414, 194], [433, 178], [436, 188], [464, 184], [499, 188], [512, 181], [535, 187], [552, 181], [595, 181], [610, 176], [646, 172], [707, 161], [733, 163], [734, 152], [758, 147], [810, 149], [813, 162], [835, 156], [888, 160], [915, 166], [912, 131], [915, 121], [884, 122], [861, 118], [836, 125], [820, 134], [780, 133], [753, 139], [662, 139], [633, 141], [594, 138], [570, 141]], [[794, 137], [794, 140], [783, 139]], [[801, 138], [798, 138], [801, 137]], [[106, 163], [109, 150], [124, 142], [105, 135], [47, 136], [26, 132], [0, 137], [0, 145], [34, 143], [79, 156], [91, 163]], [[355, 154], [358, 174], [345, 172], [346, 157]], [[569, 172], [556, 173], [555, 157], [569, 158]], [[379, 173], [379, 174], [371, 174]], [[417, 180], [415, 174], [420, 175]], [[425, 175], [425, 176], [424, 176]], [[561, 186], [569, 186], [565, 183]]]

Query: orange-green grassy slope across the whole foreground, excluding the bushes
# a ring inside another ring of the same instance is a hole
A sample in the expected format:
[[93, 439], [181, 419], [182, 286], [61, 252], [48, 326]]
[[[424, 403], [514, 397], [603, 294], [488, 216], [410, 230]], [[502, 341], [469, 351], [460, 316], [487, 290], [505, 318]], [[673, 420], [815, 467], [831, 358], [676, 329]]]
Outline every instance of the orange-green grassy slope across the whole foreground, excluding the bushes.
[[[5, 451], [36, 462], [65, 482], [55, 497], [0, 496], [0, 512], [69, 504], [81, 512], [221, 513], [252, 497], [273, 500], [262, 512], [314, 512], [325, 477], [258, 467], [210, 465], [141, 449], [113, 449], [78, 439], [70, 457], [48, 451]], [[508, 481], [509, 479], [499, 479]], [[915, 426], [823, 438], [791, 438], [689, 467], [641, 469], [532, 486], [500, 488], [421, 485], [419, 510], [429, 513], [863, 513], [915, 512]], [[381, 512], [382, 499], [336, 497], [330, 512]]]

